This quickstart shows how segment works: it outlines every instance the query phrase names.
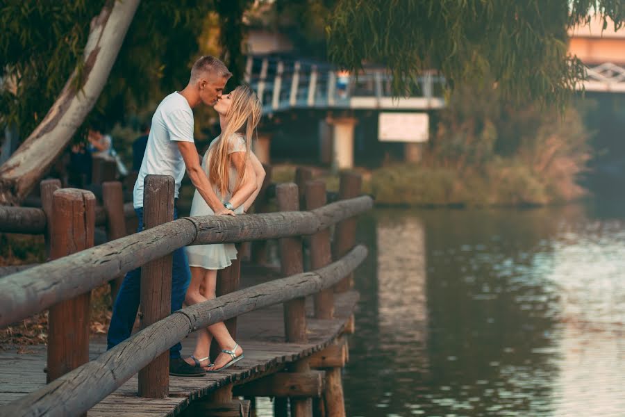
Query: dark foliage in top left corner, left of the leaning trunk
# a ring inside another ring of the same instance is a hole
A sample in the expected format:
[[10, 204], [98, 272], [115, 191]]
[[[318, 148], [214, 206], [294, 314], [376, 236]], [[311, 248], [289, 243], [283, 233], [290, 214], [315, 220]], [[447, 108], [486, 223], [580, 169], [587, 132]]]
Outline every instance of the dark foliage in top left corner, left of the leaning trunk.
[[[0, 124], [32, 131], [83, 54], [104, 1], [5, 0], [0, 5]], [[78, 66], [77, 66], [78, 63]]]

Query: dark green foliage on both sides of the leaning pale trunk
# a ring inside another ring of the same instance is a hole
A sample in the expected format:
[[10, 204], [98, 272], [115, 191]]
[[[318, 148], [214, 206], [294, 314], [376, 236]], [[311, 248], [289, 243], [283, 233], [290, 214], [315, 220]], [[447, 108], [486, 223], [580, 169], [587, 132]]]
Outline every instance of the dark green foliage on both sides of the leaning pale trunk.
[[[209, 13], [224, 19], [222, 46], [236, 78], [242, 74], [242, 11], [251, 0], [142, 1], [94, 111], [85, 124], [149, 117], [164, 95], [184, 88], [201, 47], [198, 38]], [[80, 74], [90, 22], [104, 0], [5, 0], [0, 3], [0, 124], [16, 124], [28, 136], [74, 70]], [[78, 84], [81, 78], [78, 77]], [[84, 129], [82, 129], [84, 131]]]

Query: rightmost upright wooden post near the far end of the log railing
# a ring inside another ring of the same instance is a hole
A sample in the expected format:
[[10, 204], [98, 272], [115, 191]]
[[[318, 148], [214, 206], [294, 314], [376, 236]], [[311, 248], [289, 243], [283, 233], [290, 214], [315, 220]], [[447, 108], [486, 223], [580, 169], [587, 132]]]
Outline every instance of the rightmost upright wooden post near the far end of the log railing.
[[[348, 199], [358, 197], [363, 179], [356, 172], [341, 172], [339, 184], [339, 198]], [[356, 219], [350, 218], [338, 223], [334, 230], [333, 259], [340, 259], [347, 254], [356, 242]], [[353, 274], [349, 274], [335, 286], [336, 292], [348, 291], [353, 287]]]

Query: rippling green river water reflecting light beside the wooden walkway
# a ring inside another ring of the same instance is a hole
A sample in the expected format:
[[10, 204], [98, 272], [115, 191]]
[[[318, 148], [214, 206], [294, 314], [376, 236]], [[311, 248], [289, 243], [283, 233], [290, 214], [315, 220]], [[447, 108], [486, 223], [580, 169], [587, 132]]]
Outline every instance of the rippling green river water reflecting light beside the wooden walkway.
[[625, 416], [625, 202], [377, 209], [357, 240], [347, 416]]

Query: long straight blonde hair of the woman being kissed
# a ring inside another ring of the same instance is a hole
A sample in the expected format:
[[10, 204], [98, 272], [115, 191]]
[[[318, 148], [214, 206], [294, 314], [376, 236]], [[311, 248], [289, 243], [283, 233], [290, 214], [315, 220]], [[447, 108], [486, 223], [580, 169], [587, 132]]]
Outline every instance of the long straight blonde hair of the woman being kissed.
[[[210, 183], [217, 186], [222, 195], [226, 195], [228, 192], [234, 193], [244, 179], [252, 135], [258, 126], [261, 113], [260, 101], [249, 86], [239, 85], [231, 92], [231, 95], [232, 101], [228, 113], [226, 113], [226, 128], [217, 138], [218, 142], [208, 152], [210, 161], [208, 179], [210, 179]], [[231, 190], [229, 184], [231, 161], [228, 158], [231, 144], [228, 142], [232, 142], [230, 138], [234, 133], [242, 133], [245, 138], [245, 164], [243, 170], [238, 172], [237, 182]]]

